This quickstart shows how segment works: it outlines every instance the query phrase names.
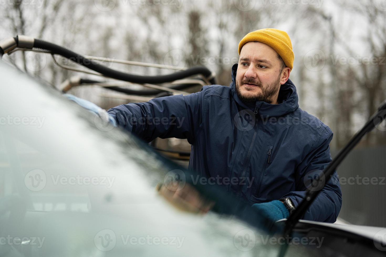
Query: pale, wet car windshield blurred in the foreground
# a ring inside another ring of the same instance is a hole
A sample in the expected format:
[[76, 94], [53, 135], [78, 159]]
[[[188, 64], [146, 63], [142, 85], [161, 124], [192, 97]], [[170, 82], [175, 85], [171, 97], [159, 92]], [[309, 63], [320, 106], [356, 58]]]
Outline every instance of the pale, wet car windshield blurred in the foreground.
[[277, 255], [245, 223], [171, 207], [155, 187], [179, 166], [0, 64], [0, 256]]

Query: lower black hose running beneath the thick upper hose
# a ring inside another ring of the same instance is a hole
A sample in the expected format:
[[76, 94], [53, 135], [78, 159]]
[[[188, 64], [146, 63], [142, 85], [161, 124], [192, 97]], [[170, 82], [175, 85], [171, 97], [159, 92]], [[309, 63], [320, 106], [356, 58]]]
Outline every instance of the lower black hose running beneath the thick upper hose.
[[[95, 81], [91, 79], [80, 79], [80, 84], [95, 84], [95, 83], [101, 83], [100, 81]], [[176, 90], [183, 90], [187, 89], [189, 87], [194, 87], [194, 86], [201, 86], [200, 84], [176, 84], [172, 85], [169, 87], [170, 89], [176, 89]], [[159, 94], [161, 92], [168, 92], [164, 90], [159, 90], [159, 89], [140, 89], [140, 90], [135, 90], [135, 89], [130, 89], [130, 88], [125, 88], [125, 87], [105, 87], [106, 89], [111, 89], [113, 91], [125, 93], [125, 94], [134, 94], [138, 96], [154, 96], [156, 94]]]

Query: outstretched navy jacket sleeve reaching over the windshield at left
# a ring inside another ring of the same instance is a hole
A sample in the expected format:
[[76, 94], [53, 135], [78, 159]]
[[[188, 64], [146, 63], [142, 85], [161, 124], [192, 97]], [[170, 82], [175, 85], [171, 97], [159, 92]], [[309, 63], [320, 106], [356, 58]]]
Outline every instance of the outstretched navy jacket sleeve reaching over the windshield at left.
[[187, 96], [165, 96], [148, 102], [122, 104], [107, 112], [118, 126], [146, 142], [159, 138], [186, 138], [190, 144], [201, 123], [203, 91]]

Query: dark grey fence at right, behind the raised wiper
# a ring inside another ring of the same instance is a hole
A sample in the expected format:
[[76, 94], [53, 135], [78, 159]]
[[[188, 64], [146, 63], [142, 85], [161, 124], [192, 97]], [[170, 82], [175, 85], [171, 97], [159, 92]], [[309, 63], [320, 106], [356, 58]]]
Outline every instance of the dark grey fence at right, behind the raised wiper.
[[[331, 155], [338, 153], [331, 150]], [[386, 146], [358, 148], [337, 168], [342, 187], [339, 217], [355, 225], [386, 227]]]

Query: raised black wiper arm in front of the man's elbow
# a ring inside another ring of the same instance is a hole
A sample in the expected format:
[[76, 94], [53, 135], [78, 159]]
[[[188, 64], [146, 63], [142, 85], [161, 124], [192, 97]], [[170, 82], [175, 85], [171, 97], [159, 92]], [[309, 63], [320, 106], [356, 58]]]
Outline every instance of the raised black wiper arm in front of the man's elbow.
[[[346, 146], [339, 151], [337, 156], [335, 156], [334, 160], [332, 160], [331, 164], [328, 165], [327, 169], [323, 170], [323, 174], [325, 177], [325, 184], [330, 180], [332, 173], [334, 173], [335, 169], [340, 165], [340, 163], [344, 160], [344, 158], [349, 154], [349, 152], [361, 141], [361, 139], [372, 129], [374, 129], [378, 124], [380, 124], [384, 119], [386, 119], [386, 100], [379, 106], [377, 113], [372, 115], [372, 117], [367, 121], [367, 123], [363, 126], [361, 130], [359, 130], [346, 144]], [[320, 181], [318, 181], [320, 183]], [[315, 187], [312, 190], [308, 189], [306, 191], [306, 196], [303, 201], [300, 202], [298, 208], [296, 208], [291, 215], [289, 215], [286, 226], [284, 229], [284, 235], [291, 235], [293, 228], [295, 227], [298, 220], [303, 217], [303, 215], [308, 210], [308, 207], [313, 203], [315, 198], [319, 195], [320, 191], [315, 190]], [[286, 251], [286, 245], [283, 245], [279, 256], [284, 256]]]

